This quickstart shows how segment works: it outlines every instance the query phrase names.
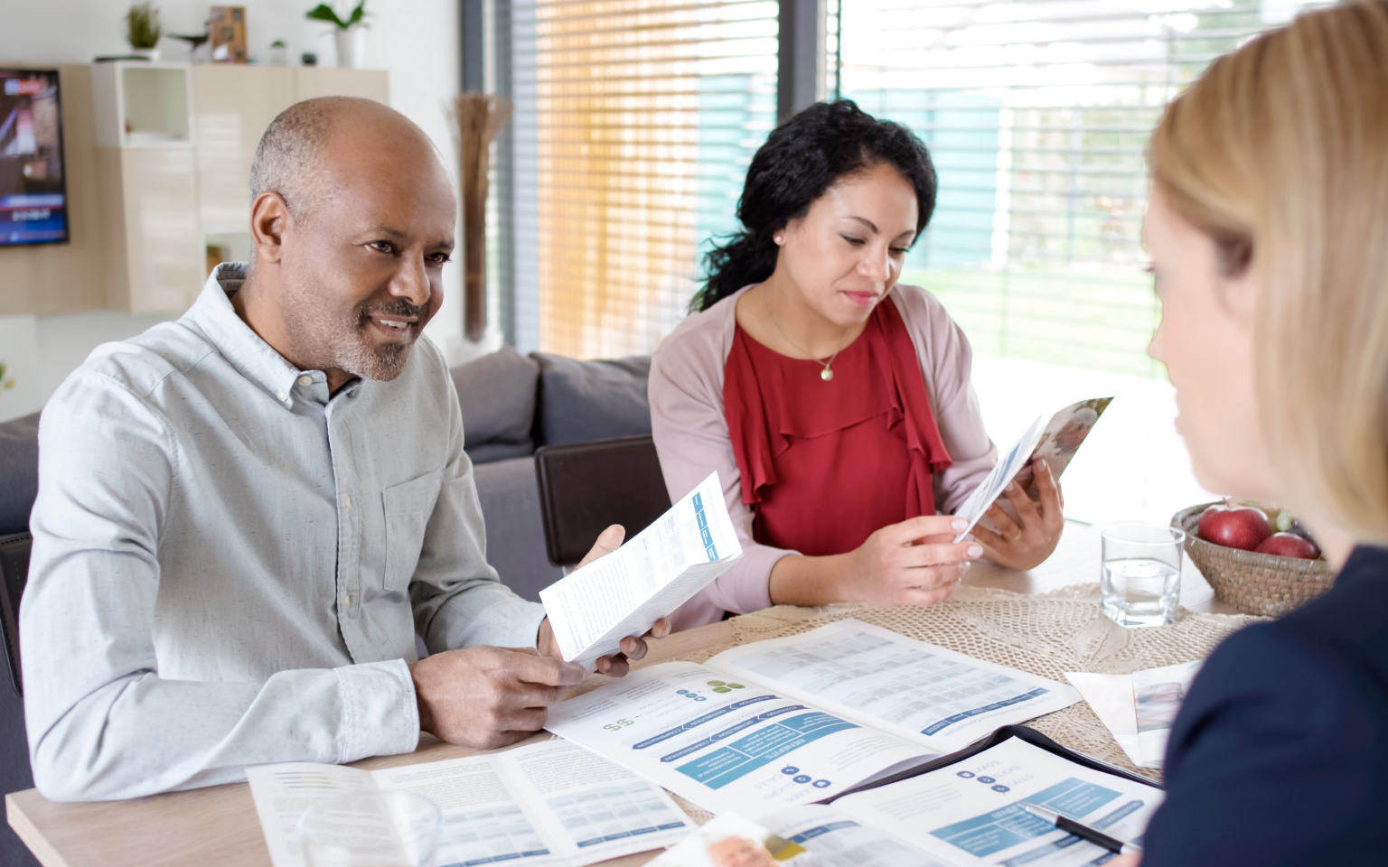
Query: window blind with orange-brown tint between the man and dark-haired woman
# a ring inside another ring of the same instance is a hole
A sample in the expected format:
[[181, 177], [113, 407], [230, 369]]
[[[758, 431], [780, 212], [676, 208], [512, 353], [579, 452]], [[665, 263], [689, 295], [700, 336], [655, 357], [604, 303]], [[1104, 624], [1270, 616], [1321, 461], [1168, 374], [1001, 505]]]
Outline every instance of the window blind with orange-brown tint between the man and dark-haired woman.
[[511, 0], [516, 343], [650, 352], [776, 122], [773, 0]]

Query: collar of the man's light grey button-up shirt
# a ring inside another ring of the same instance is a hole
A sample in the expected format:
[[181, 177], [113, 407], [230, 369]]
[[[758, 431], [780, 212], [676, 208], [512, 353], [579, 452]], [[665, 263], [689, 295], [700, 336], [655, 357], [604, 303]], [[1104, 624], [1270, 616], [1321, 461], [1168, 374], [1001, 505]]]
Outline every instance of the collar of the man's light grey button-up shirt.
[[[246, 283], [246, 262], [223, 262], [207, 277], [197, 301], [186, 316], [197, 325], [218, 352], [242, 376], [264, 388], [285, 409], [294, 408], [294, 383], [303, 370], [285, 361], [260, 334], [236, 315], [232, 295]], [[322, 379], [321, 372], [312, 376]], [[361, 380], [348, 383], [343, 393], [355, 391]]]

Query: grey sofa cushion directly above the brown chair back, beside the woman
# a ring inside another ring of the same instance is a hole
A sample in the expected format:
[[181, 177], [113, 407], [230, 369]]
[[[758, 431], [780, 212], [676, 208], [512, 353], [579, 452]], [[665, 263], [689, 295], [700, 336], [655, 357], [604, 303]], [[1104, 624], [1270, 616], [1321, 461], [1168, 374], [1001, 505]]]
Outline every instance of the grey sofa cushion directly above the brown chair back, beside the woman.
[[537, 443], [568, 445], [651, 433], [645, 380], [651, 357], [577, 361], [532, 352], [540, 362]]

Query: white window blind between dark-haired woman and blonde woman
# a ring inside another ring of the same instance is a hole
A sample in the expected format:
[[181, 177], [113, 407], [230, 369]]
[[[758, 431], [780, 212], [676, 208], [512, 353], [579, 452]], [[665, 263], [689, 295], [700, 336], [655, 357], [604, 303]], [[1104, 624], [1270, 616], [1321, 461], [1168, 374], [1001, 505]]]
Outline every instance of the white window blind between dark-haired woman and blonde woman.
[[979, 352], [1155, 376], [1140, 232], [1162, 107], [1296, 0], [851, 0], [826, 28], [836, 86], [911, 126], [940, 175], [902, 282]]

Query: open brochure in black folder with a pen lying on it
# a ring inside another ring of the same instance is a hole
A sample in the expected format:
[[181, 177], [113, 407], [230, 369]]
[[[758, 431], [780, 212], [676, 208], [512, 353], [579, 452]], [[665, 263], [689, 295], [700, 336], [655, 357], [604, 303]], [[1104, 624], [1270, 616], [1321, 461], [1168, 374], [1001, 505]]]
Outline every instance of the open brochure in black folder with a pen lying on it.
[[[1141, 845], [1160, 789], [1008, 738], [944, 767], [833, 805], [752, 821], [725, 814], [651, 867], [1080, 867], [1110, 856], [1022, 809], [1048, 807]], [[741, 860], [730, 860], [736, 853]]]

